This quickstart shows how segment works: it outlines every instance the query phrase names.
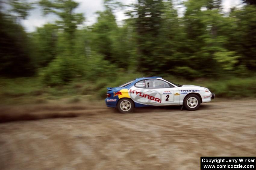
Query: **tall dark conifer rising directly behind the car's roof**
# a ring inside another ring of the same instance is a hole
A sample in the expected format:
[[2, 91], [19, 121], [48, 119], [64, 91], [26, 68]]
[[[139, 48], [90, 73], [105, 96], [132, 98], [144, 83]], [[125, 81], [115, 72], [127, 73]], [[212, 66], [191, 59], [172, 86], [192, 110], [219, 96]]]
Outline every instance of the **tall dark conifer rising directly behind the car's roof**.
[[137, 35], [138, 64], [145, 72], [159, 71], [156, 50], [163, 24], [164, 3], [162, 0], [138, 0], [133, 8], [130, 14]]

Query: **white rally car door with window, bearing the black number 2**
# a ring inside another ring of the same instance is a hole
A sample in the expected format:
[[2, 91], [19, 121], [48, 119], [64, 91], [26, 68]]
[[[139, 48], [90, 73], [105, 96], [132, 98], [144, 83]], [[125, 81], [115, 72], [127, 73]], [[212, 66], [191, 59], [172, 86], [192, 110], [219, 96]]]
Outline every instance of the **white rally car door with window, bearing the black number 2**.
[[160, 79], [145, 80], [145, 102], [148, 105], [180, 104], [178, 88]]

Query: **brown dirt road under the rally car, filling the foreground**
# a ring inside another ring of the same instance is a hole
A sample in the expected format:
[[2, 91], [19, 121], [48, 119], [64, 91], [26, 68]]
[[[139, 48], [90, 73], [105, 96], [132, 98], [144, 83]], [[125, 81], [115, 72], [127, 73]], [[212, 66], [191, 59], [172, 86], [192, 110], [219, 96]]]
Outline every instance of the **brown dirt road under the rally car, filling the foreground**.
[[255, 114], [256, 100], [132, 114], [92, 104], [1, 107], [0, 169], [198, 170], [200, 156], [255, 157]]

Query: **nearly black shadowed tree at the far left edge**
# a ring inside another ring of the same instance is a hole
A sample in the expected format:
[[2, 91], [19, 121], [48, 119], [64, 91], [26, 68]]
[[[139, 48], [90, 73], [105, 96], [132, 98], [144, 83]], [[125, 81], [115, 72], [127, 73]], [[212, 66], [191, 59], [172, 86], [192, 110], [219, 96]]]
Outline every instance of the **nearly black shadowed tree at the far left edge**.
[[0, 75], [17, 77], [34, 73], [29, 40], [23, 27], [0, 12]]

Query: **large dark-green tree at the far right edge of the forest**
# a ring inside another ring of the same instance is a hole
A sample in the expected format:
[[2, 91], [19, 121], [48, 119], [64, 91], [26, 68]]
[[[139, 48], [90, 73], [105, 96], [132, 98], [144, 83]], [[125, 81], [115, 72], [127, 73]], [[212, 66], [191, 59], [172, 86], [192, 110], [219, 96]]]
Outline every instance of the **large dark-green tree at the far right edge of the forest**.
[[256, 8], [254, 5], [246, 5], [241, 10], [234, 9], [230, 13], [230, 18], [233, 18], [234, 25], [227, 48], [236, 51], [241, 56], [239, 65], [255, 71]]

